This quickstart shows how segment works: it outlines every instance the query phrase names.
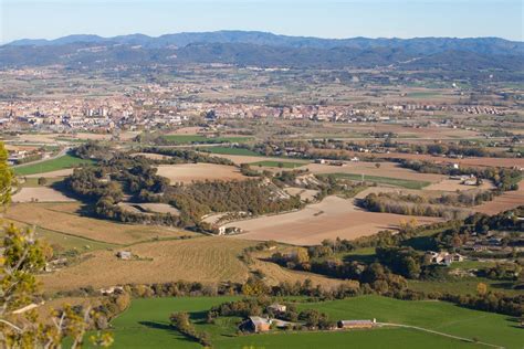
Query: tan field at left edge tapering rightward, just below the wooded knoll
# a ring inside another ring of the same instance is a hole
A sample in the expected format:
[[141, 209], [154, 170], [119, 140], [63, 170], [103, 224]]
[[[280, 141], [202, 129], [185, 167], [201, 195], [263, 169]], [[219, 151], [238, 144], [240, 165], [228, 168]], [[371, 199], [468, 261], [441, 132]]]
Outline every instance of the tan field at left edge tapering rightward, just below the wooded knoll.
[[6, 218], [29, 225], [39, 225], [51, 231], [115, 244], [147, 241], [156, 236], [176, 237], [191, 235], [189, 232], [181, 232], [169, 228], [120, 224], [80, 216], [75, 213], [80, 208], [81, 204], [77, 202], [14, 203], [7, 211]]

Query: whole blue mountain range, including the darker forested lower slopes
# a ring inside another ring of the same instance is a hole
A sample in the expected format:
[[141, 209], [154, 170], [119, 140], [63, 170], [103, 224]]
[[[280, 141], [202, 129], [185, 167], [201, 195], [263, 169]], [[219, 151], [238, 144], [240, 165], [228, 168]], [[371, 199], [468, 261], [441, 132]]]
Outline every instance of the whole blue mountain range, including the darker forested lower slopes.
[[524, 43], [499, 38], [319, 39], [254, 31], [157, 38], [69, 35], [0, 46], [2, 66], [226, 63], [285, 67], [524, 70]]

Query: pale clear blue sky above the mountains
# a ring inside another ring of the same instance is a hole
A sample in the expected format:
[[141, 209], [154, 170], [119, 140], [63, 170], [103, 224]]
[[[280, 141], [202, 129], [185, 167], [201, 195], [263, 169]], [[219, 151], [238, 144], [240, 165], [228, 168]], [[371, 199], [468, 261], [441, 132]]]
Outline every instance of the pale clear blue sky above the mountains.
[[0, 0], [0, 43], [216, 30], [523, 41], [524, 0]]

